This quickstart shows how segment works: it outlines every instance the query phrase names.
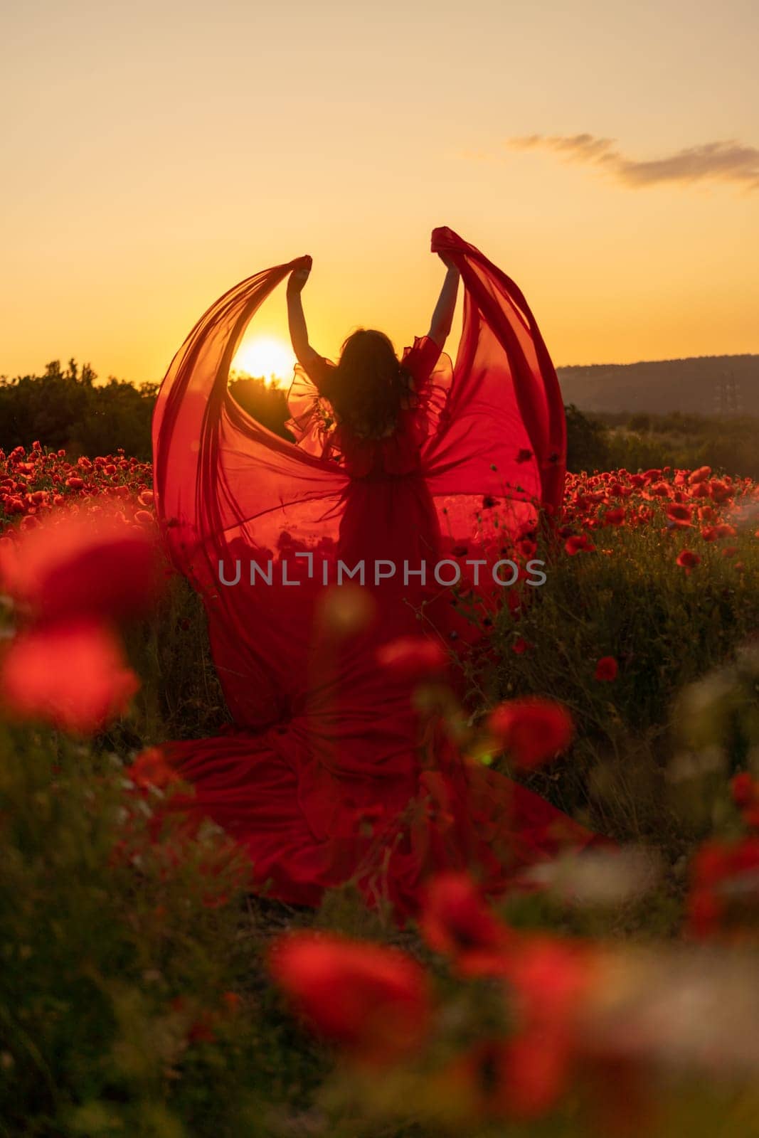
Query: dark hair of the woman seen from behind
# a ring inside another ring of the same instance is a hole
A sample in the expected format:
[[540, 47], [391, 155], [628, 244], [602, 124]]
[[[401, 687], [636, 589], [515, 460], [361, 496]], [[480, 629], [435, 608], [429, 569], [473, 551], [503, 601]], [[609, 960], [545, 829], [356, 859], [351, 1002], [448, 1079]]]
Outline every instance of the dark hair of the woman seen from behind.
[[411, 391], [411, 373], [398, 363], [385, 332], [360, 328], [343, 344], [323, 394], [354, 434], [381, 438], [394, 429]]

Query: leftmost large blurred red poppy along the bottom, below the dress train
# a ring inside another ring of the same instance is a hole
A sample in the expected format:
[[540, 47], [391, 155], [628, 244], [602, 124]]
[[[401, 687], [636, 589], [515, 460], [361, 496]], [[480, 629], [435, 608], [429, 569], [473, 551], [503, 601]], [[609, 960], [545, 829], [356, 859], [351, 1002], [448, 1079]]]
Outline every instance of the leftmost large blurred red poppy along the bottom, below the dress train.
[[295, 932], [275, 941], [269, 967], [311, 1026], [360, 1062], [401, 1059], [427, 1036], [427, 975], [397, 949]]

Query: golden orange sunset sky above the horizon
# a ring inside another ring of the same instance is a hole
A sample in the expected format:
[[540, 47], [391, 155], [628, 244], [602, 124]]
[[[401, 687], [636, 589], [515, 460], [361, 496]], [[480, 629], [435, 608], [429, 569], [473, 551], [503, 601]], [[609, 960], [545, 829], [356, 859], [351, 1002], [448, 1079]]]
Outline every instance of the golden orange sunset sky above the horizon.
[[[220, 294], [304, 253], [317, 351], [364, 325], [399, 352], [440, 224], [558, 365], [759, 352], [756, 0], [14, 7], [0, 374], [159, 380]], [[256, 333], [287, 343], [284, 286]]]

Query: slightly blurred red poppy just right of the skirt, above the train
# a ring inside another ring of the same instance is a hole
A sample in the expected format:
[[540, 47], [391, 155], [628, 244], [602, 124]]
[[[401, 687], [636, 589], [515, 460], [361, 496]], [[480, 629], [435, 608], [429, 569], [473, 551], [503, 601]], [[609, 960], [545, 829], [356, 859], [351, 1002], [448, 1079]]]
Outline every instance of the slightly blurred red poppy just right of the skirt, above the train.
[[535, 767], [569, 745], [572, 718], [561, 703], [529, 696], [501, 703], [488, 719], [496, 744], [521, 767]]

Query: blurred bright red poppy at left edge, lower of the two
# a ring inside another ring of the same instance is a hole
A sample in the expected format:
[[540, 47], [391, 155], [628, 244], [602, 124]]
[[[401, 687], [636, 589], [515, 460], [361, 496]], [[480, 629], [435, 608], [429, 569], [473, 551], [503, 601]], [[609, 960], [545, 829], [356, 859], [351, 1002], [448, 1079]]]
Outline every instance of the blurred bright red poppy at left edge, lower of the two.
[[89, 618], [19, 633], [0, 666], [11, 714], [81, 734], [122, 715], [139, 686], [114, 633]]

